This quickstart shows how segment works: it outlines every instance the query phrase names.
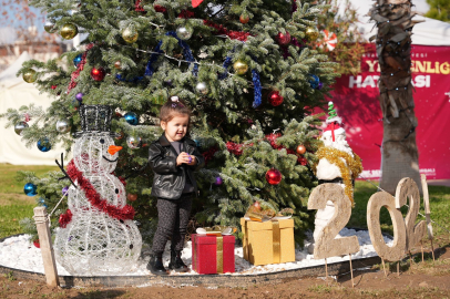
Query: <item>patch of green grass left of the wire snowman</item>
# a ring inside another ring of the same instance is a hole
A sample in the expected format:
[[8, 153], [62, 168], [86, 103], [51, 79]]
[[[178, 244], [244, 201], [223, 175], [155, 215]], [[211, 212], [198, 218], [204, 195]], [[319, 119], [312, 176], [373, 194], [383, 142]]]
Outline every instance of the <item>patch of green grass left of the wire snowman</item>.
[[57, 166], [21, 166], [0, 164], [0, 238], [22, 233], [19, 221], [33, 216], [35, 198], [23, 194], [23, 183], [18, 182], [19, 171], [34, 172], [38, 176], [49, 171], [58, 171]]

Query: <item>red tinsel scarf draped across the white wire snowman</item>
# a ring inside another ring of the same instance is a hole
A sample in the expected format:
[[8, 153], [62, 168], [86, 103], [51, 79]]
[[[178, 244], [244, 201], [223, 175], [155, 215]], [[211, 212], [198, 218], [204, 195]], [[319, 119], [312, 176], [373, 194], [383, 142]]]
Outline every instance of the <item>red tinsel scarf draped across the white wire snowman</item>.
[[123, 208], [117, 208], [114, 205], [110, 205], [105, 199], [102, 199], [91, 182], [76, 168], [73, 159], [68, 165], [68, 174], [73, 182], [78, 182], [78, 185], [84, 192], [92, 206], [119, 220], [131, 220], [134, 218], [134, 208], [132, 206], [125, 205]]

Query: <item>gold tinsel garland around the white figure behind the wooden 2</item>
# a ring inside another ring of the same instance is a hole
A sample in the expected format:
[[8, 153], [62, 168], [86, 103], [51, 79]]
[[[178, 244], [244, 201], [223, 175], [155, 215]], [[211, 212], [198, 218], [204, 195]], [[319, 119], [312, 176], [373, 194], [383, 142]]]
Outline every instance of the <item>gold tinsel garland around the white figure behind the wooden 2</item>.
[[[329, 163], [336, 165], [339, 168], [342, 176], [344, 185], [346, 186], [345, 193], [351, 200], [351, 207], [355, 207], [354, 186], [351, 184], [351, 179], [357, 178], [358, 175], [362, 172], [361, 158], [355, 153], [354, 156], [351, 156], [344, 151], [339, 151], [329, 146], [320, 146], [316, 155], [318, 159], [326, 158]], [[316, 167], [317, 164], [314, 165], [315, 173]]]

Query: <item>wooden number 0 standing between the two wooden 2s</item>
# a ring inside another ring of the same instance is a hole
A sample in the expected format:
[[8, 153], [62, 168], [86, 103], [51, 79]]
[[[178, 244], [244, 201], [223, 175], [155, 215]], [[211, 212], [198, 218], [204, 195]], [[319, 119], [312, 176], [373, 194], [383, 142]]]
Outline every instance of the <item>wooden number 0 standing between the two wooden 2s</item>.
[[[380, 210], [386, 207], [389, 210], [393, 226], [393, 246], [386, 245], [381, 235]], [[374, 194], [367, 204], [367, 226], [369, 228], [370, 240], [378, 256], [382, 259], [396, 261], [405, 255], [406, 233], [401, 213], [396, 209], [396, 199], [386, 192]]]

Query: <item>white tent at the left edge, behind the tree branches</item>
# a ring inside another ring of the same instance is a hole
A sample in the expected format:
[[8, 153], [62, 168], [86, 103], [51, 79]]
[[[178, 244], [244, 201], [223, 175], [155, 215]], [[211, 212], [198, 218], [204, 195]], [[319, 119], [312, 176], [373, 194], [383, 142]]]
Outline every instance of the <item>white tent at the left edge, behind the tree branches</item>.
[[[6, 113], [8, 109], [19, 109], [30, 103], [45, 110], [53, 101], [47, 94], [39, 94], [39, 90], [34, 84], [24, 82], [21, 76], [16, 76], [16, 73], [22, 68], [22, 63], [28, 60], [31, 60], [31, 56], [28, 52], [23, 52], [13, 64], [0, 73], [0, 114]], [[13, 127], [4, 128], [6, 124], [7, 120], [0, 118], [0, 136], [2, 137], [0, 163], [55, 165], [54, 159], [58, 155], [61, 155], [63, 150], [57, 146], [47, 153], [42, 153], [35, 145], [28, 148], [25, 143], [21, 141], [21, 136], [16, 134]]]

